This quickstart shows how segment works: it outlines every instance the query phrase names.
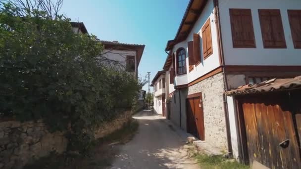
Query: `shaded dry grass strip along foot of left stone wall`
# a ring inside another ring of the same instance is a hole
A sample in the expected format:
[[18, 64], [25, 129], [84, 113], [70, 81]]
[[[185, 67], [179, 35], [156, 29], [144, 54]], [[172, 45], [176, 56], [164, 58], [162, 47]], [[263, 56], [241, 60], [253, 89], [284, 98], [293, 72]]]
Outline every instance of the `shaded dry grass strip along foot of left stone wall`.
[[129, 142], [138, 127], [138, 122], [131, 120], [121, 129], [93, 142], [87, 154], [51, 153], [23, 169], [104, 169], [110, 166], [114, 155], [118, 153], [118, 145]]

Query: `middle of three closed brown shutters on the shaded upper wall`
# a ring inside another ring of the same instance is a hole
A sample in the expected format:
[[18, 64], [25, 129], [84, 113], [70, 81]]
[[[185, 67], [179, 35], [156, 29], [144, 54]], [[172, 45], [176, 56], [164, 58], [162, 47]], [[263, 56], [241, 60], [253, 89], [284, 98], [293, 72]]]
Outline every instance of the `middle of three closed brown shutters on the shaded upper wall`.
[[264, 48], [286, 48], [279, 9], [258, 9]]

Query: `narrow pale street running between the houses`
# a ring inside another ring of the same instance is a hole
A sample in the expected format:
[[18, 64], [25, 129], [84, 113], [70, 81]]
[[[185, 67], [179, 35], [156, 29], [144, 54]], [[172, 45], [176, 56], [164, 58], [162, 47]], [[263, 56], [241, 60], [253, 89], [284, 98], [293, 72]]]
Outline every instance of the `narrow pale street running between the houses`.
[[109, 169], [200, 169], [188, 153], [184, 131], [151, 111], [142, 111], [133, 118], [139, 122], [138, 133], [120, 145]]

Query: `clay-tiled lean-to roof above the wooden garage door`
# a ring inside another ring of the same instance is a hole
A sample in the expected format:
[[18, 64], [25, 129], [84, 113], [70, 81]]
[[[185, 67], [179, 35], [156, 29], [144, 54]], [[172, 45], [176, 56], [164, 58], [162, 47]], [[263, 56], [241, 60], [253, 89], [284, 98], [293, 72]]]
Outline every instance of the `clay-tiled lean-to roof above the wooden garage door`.
[[263, 93], [270, 91], [282, 91], [291, 89], [301, 89], [301, 76], [290, 79], [271, 79], [259, 84], [247, 84], [239, 86], [237, 89], [226, 91], [226, 95], [241, 95], [251, 93]]

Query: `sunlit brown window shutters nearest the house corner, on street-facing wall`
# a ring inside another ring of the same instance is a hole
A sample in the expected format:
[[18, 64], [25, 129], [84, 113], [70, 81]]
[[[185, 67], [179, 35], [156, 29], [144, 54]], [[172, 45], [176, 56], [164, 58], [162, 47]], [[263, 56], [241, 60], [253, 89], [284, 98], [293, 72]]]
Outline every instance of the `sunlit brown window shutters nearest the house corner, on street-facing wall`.
[[205, 25], [201, 28], [201, 37], [202, 37], [202, 44], [203, 44], [203, 55], [205, 59], [212, 54], [210, 19], [208, 19]]

